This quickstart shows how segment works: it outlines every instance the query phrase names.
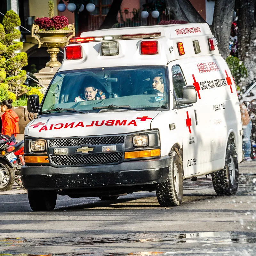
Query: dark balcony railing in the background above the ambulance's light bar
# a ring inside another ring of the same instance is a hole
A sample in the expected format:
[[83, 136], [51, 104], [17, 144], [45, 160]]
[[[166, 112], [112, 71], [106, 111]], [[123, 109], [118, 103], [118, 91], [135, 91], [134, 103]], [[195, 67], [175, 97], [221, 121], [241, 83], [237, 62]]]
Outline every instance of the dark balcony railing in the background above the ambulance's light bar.
[[[104, 21], [106, 16], [89, 16], [88, 31], [97, 30]], [[149, 13], [147, 19], [142, 19], [140, 15], [134, 15], [133, 12], [122, 12], [118, 13], [116, 23], [113, 28], [126, 28], [126, 27], [138, 27], [138, 26], [154, 26], [159, 21], [169, 20], [169, 16], [161, 13], [158, 19], [155, 19]]]

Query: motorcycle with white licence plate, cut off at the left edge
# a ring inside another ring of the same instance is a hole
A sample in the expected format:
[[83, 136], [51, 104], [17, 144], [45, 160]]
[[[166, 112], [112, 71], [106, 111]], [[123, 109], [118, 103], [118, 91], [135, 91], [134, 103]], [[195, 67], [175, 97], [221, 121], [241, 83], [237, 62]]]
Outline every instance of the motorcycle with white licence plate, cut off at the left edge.
[[17, 156], [12, 152], [15, 147], [10, 145], [13, 140], [0, 135], [0, 191], [12, 188], [15, 181], [15, 170], [18, 165]]

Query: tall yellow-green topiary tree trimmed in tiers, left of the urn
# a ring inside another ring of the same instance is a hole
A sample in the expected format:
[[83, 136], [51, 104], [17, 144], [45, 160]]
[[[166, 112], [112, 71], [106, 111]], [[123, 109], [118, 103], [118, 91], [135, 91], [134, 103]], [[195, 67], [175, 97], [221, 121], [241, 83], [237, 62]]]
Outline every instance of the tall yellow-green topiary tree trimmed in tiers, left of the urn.
[[23, 86], [27, 77], [26, 70], [21, 70], [21, 68], [28, 65], [27, 53], [17, 53], [23, 48], [23, 43], [14, 41], [20, 38], [20, 31], [16, 29], [20, 26], [20, 18], [10, 10], [4, 15], [2, 25], [5, 35], [0, 39], [0, 43], [6, 46], [6, 51], [3, 53], [5, 58], [3, 67], [7, 77], [4, 79], [4, 83], [8, 84], [9, 91], [18, 97], [26, 92], [26, 87]]

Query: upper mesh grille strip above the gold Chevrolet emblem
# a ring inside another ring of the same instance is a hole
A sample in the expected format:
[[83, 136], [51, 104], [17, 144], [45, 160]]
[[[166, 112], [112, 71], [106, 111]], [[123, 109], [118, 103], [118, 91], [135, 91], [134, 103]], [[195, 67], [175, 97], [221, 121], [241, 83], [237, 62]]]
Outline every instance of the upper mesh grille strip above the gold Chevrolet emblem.
[[72, 147], [81, 145], [110, 145], [123, 144], [124, 136], [108, 136], [108, 137], [87, 137], [87, 138], [69, 138], [48, 140], [48, 147]]

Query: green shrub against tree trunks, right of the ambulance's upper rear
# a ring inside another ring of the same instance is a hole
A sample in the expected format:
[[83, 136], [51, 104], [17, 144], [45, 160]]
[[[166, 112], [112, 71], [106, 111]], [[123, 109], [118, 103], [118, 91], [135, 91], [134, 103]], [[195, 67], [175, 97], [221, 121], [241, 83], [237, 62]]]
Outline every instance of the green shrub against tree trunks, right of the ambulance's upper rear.
[[228, 57], [226, 61], [231, 74], [234, 77], [236, 86], [238, 87], [237, 89], [240, 90], [241, 81], [243, 81], [245, 77], [248, 76], [247, 69], [245, 68], [243, 61], [240, 61], [236, 57]]

